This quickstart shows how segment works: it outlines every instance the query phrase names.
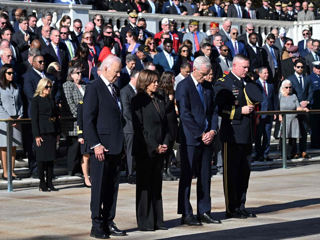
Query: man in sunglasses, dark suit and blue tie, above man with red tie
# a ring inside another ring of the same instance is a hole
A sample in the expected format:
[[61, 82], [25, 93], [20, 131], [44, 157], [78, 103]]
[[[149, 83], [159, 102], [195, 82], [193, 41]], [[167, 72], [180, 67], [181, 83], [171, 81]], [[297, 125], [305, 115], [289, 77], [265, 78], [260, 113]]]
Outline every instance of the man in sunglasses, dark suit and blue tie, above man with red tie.
[[273, 84], [275, 91], [279, 89], [281, 78], [280, 52], [273, 44], [276, 41], [274, 34], [267, 36], [267, 43], [261, 47], [262, 66], [268, 68], [268, 82]]

